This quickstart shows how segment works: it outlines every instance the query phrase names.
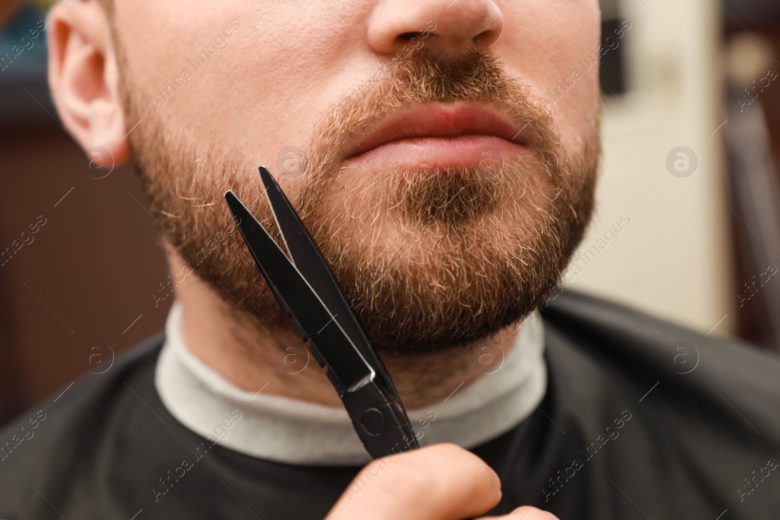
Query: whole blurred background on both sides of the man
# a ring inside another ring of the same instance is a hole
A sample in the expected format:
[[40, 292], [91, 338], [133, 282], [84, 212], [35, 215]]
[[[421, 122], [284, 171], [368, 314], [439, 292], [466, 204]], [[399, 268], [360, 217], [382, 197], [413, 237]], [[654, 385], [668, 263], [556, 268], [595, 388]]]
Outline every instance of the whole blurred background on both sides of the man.
[[[0, 0], [0, 423], [107, 370], [170, 305], [155, 306], [168, 273], [132, 172], [90, 168], [58, 122], [50, 4]], [[551, 299], [590, 292], [777, 350], [780, 2], [601, 6], [597, 213]]]

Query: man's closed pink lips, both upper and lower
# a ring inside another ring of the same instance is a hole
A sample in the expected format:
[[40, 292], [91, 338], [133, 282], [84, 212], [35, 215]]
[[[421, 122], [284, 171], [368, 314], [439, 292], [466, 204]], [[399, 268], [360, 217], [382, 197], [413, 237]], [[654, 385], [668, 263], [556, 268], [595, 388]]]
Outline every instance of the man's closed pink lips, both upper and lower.
[[477, 168], [486, 157], [506, 161], [527, 151], [523, 126], [488, 104], [473, 101], [420, 104], [386, 115], [351, 143], [348, 167]]

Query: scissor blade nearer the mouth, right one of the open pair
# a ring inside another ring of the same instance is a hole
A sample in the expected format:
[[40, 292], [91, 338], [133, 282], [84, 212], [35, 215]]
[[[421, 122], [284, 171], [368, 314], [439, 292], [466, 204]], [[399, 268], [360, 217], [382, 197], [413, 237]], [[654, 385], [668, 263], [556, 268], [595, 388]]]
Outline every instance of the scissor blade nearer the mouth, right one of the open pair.
[[[371, 347], [360, 322], [355, 317], [352, 307], [346, 300], [344, 293], [335, 281], [328, 264], [325, 263], [322, 253], [317, 248], [314, 240], [309, 235], [306, 227], [300, 221], [292, 204], [289, 203], [287, 196], [279, 188], [278, 184], [266, 168], [258, 168], [260, 179], [263, 182], [265, 196], [268, 203], [271, 204], [276, 225], [282, 232], [282, 238], [285, 241], [290, 258], [293, 264], [303, 274], [303, 278], [309, 282], [314, 292], [317, 292], [322, 302], [328, 307], [328, 310], [339, 321], [342, 329], [353, 341], [353, 344], [360, 350], [363, 357], [374, 366], [374, 369], [381, 373], [385, 381], [390, 381], [385, 366], [377, 356], [374, 348]], [[397, 396], [397, 391], [392, 384], [388, 384], [388, 389]]]

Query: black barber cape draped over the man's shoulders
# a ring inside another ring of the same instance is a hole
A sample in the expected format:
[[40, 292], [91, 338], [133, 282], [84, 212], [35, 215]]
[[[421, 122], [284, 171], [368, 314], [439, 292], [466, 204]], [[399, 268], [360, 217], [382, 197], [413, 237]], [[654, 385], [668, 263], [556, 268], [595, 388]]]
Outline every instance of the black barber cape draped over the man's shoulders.
[[[778, 356], [569, 291], [542, 316], [544, 401], [473, 449], [501, 477], [491, 515], [780, 518]], [[359, 468], [271, 462], [187, 430], [154, 389], [162, 341], [5, 426], [0, 518], [324, 518]]]

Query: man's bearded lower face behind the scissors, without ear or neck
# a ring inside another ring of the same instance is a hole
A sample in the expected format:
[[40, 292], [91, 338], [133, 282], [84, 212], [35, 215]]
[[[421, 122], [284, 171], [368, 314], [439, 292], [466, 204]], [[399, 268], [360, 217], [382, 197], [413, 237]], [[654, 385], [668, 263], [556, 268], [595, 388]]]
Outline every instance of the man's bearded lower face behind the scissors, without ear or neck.
[[571, 76], [598, 47], [594, 0], [116, 0], [113, 20], [165, 239], [266, 326], [281, 310], [222, 199], [232, 189], [273, 228], [259, 165], [385, 351], [495, 334], [580, 241], [597, 68]]

